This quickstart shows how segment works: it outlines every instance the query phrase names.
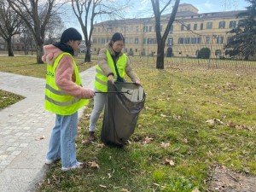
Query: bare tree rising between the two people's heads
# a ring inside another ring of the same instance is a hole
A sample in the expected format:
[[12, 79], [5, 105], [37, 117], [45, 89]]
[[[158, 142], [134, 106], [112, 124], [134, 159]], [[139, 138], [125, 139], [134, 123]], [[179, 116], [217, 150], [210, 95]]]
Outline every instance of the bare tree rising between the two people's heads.
[[86, 44], [85, 62], [90, 62], [91, 36], [96, 15], [122, 17], [129, 0], [72, 0], [73, 12], [79, 20]]

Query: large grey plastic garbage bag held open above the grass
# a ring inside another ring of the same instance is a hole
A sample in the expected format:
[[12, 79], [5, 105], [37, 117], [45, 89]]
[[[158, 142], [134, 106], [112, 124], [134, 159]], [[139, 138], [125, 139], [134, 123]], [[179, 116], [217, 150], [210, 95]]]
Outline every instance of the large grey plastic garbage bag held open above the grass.
[[135, 130], [146, 95], [142, 86], [133, 83], [108, 82], [110, 91], [104, 109], [101, 139], [103, 143], [123, 146]]

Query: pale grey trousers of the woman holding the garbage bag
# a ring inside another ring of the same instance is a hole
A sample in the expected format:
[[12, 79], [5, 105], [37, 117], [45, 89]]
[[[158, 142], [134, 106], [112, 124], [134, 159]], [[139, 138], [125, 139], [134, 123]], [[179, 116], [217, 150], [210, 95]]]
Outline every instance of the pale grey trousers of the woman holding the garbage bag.
[[[96, 90], [96, 88], [94, 90], [99, 91], [99, 90]], [[96, 96], [93, 97], [94, 107], [90, 114], [89, 131], [96, 131], [96, 122], [98, 121], [102, 113], [102, 110], [105, 106], [106, 99], [107, 99], [107, 93], [96, 93]]]

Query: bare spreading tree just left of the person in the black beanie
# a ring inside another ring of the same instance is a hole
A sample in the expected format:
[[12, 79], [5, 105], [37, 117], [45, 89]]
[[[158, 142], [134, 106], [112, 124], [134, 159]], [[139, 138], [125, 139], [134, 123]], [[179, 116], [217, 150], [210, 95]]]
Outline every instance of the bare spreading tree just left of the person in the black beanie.
[[38, 0], [7, 0], [15, 12], [25, 21], [26, 26], [32, 32], [33, 38], [37, 44], [37, 61], [43, 63], [43, 45], [45, 38], [45, 29], [49, 23], [51, 15], [55, 14], [57, 0], [44, 0], [39, 3]]

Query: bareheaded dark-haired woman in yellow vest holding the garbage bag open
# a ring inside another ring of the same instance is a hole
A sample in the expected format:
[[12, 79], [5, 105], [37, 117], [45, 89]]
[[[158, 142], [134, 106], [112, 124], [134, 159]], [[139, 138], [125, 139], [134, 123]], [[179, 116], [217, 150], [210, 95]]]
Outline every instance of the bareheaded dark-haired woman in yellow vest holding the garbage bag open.
[[[124, 81], [125, 73], [131, 81], [141, 84], [137, 74], [131, 68], [130, 60], [122, 52], [125, 45], [125, 38], [119, 32], [113, 34], [110, 42], [99, 52], [99, 61], [96, 67], [95, 91], [108, 91], [108, 81]], [[90, 114], [89, 137], [86, 143], [95, 140], [96, 122], [105, 106], [106, 93], [97, 93], [94, 97], [94, 108]]]

